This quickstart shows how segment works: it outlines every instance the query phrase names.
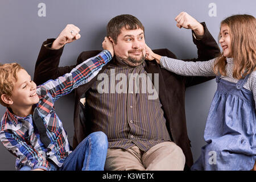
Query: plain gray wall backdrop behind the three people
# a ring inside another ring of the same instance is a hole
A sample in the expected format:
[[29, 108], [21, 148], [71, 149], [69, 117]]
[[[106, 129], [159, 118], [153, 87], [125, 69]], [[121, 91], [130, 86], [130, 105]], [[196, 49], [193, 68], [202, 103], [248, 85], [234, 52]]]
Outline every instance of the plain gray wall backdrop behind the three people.
[[[42, 4], [43, 3], [43, 4]], [[33, 76], [41, 44], [56, 38], [68, 23], [81, 29], [81, 39], [65, 46], [60, 65], [76, 63], [82, 51], [101, 49], [106, 24], [119, 14], [137, 16], [145, 27], [146, 43], [152, 49], [168, 48], [180, 59], [197, 56], [191, 31], [176, 27], [174, 18], [186, 11], [206, 22], [217, 40], [220, 22], [233, 14], [255, 16], [255, 0], [0, 0], [0, 62], [17, 61]], [[193, 158], [200, 155], [205, 121], [216, 90], [214, 80], [192, 86], [186, 92], [186, 117]], [[56, 111], [72, 144], [73, 95], [60, 98]], [[0, 106], [0, 116], [5, 107]], [[15, 170], [15, 157], [0, 144], [0, 170]]]

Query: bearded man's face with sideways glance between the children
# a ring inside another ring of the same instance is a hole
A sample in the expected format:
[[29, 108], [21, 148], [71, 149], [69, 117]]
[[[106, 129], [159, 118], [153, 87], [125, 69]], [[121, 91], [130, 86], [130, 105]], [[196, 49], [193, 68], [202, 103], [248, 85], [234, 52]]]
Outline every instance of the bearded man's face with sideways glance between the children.
[[117, 37], [117, 44], [113, 43], [113, 46], [115, 56], [132, 67], [137, 67], [145, 59], [146, 44], [141, 28], [126, 30], [123, 27]]

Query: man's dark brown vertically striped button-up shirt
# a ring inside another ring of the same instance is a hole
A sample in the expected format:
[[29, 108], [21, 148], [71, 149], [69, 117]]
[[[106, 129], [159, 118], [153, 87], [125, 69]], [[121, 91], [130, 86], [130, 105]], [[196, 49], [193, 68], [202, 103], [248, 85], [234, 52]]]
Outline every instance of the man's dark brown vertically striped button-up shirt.
[[[136, 144], [147, 151], [171, 140], [157, 89], [144, 64], [129, 67], [114, 58], [86, 94], [92, 131], [103, 131], [110, 148], [127, 149]], [[157, 75], [151, 77], [156, 85]]]

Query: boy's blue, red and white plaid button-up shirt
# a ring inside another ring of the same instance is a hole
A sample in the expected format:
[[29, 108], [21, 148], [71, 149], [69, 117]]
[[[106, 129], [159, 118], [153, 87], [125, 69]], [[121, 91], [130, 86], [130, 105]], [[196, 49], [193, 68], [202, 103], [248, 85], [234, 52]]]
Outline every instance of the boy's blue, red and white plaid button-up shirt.
[[6, 109], [0, 125], [0, 140], [7, 150], [17, 157], [15, 165], [17, 170], [24, 165], [32, 169], [48, 170], [48, 159], [57, 166], [62, 166], [71, 149], [63, 124], [55, 113], [54, 102], [79, 85], [92, 80], [111, 59], [110, 52], [104, 50], [77, 65], [70, 73], [37, 87], [36, 93], [40, 100], [33, 108], [34, 113], [35, 111], [39, 113], [46, 127], [47, 137], [51, 141], [47, 147], [40, 141], [31, 114], [27, 117], [18, 117], [11, 112], [11, 109]]

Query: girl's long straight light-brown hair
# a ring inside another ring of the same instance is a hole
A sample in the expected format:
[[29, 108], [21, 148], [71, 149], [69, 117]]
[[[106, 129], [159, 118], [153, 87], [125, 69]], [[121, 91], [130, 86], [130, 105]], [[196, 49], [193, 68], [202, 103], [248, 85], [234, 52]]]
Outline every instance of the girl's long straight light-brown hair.
[[[256, 20], [251, 15], [233, 15], [222, 20], [221, 26], [229, 27], [231, 55], [234, 59], [233, 77], [238, 80], [255, 70]], [[220, 35], [218, 37], [220, 40]], [[223, 52], [217, 57], [213, 71], [226, 76], [226, 57]]]

